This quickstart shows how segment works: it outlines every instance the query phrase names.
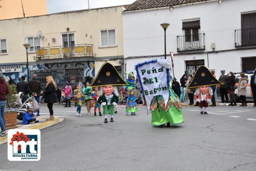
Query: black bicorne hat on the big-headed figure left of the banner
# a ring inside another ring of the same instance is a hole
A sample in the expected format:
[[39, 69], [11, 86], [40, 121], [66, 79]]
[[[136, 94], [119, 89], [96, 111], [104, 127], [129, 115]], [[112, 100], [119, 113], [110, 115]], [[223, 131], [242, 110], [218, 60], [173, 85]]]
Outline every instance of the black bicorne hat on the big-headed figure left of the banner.
[[90, 87], [100, 87], [108, 85], [119, 86], [128, 84], [125, 82], [125, 80], [122, 79], [116, 68], [112, 64], [106, 62], [99, 69], [99, 72], [96, 78], [93, 80], [92, 84], [90, 84]]

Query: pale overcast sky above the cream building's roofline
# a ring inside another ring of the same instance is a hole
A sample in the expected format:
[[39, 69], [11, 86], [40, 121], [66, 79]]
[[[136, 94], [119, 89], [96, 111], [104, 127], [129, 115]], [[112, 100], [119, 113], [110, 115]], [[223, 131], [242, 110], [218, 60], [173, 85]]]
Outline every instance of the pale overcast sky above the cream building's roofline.
[[[90, 8], [127, 5], [134, 1], [135, 0], [90, 0]], [[47, 7], [48, 14], [88, 9], [88, 0], [47, 0]]]

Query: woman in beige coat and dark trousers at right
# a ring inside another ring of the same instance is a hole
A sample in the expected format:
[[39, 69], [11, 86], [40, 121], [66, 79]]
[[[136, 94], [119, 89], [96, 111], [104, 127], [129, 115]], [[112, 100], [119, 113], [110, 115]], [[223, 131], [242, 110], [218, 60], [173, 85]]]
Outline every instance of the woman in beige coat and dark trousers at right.
[[240, 74], [240, 79], [239, 79], [239, 83], [238, 83], [238, 95], [240, 96], [241, 98], [241, 101], [242, 101], [242, 104], [240, 106], [247, 106], [246, 104], [246, 87], [247, 87], [247, 81], [248, 79], [245, 78], [244, 76], [244, 73], [241, 73]]

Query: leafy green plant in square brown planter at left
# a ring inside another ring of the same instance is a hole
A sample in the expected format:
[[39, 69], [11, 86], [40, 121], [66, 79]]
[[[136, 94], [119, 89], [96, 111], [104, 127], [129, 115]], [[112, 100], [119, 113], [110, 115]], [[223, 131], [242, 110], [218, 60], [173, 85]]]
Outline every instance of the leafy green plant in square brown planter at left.
[[[0, 74], [0, 76], [2, 76]], [[9, 93], [6, 95], [6, 108], [4, 111], [4, 117], [6, 120], [6, 129], [16, 128], [17, 127], [17, 111], [12, 112], [10, 108], [14, 106], [15, 101], [17, 100], [17, 90], [16, 85], [8, 85]]]

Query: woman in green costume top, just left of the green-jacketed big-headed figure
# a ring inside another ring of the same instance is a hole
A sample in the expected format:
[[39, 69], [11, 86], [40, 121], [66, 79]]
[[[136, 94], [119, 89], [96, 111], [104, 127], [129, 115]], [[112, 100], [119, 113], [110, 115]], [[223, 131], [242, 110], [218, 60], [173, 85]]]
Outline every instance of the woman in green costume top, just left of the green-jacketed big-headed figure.
[[87, 114], [90, 115], [92, 113], [90, 113], [90, 110], [92, 108], [92, 92], [93, 89], [92, 87], [90, 87], [90, 83], [92, 82], [93, 78], [90, 76], [85, 77], [85, 81], [84, 81], [84, 88], [82, 93], [84, 94], [84, 104], [86, 104], [87, 107]]

